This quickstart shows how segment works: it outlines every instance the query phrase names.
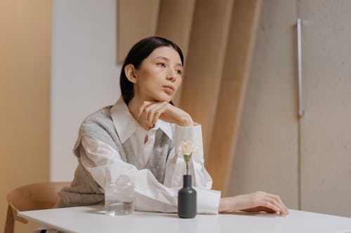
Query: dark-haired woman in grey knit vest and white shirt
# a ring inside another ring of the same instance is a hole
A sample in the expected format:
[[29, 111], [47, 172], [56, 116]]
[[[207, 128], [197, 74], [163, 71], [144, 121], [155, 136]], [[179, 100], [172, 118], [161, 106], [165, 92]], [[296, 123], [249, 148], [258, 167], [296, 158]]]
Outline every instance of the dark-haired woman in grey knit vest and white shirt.
[[[74, 146], [79, 164], [71, 187], [60, 192], [59, 206], [100, 204], [105, 183], [124, 174], [135, 181], [135, 209], [177, 211], [185, 162], [175, 148], [188, 140], [202, 148], [201, 125], [171, 102], [182, 72], [183, 54], [172, 41], [153, 36], [131, 48], [121, 70], [121, 98], [81, 124]], [[289, 213], [277, 195], [266, 192], [220, 198], [211, 190], [201, 150], [192, 156], [190, 174], [198, 213]]]

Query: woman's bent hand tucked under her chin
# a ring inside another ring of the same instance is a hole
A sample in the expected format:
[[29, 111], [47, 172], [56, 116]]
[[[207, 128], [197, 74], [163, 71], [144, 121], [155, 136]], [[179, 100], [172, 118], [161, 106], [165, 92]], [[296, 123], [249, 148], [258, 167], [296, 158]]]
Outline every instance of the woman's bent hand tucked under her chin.
[[154, 102], [144, 101], [139, 108], [138, 117], [143, 116], [147, 124], [152, 127], [158, 119], [170, 123], [176, 123], [180, 126], [193, 126], [191, 116], [176, 106], [169, 104], [166, 101]]

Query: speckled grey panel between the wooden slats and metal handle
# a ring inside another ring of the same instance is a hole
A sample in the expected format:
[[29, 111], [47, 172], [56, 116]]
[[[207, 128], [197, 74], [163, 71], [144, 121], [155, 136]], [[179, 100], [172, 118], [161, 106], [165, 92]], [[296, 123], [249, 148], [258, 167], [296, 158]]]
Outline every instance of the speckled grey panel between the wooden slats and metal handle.
[[227, 195], [263, 190], [298, 208], [296, 1], [263, 1]]

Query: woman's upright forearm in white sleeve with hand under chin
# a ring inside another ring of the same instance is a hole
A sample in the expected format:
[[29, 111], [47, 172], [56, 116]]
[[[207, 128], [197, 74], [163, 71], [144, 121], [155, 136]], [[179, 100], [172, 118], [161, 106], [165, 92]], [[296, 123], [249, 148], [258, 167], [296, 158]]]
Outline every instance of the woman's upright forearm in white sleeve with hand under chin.
[[183, 185], [183, 175], [186, 174], [185, 161], [177, 149], [182, 141], [192, 141], [199, 148], [193, 153], [190, 162], [192, 185], [211, 190], [212, 179], [204, 167], [201, 125], [194, 123], [188, 113], [167, 102], [145, 101], [139, 108], [138, 118], [143, 125], [153, 126], [158, 119], [176, 123], [174, 149], [166, 164], [164, 184], [167, 187]]

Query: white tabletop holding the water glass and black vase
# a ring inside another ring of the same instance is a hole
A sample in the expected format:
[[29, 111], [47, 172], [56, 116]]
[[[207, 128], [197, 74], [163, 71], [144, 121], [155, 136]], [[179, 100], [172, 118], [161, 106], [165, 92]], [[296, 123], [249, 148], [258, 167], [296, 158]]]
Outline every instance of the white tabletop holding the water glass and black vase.
[[289, 210], [281, 217], [268, 213], [235, 213], [178, 218], [176, 213], [140, 212], [106, 216], [103, 206], [22, 211], [18, 216], [64, 232], [351, 232], [351, 218]]

